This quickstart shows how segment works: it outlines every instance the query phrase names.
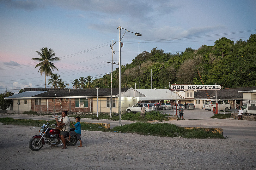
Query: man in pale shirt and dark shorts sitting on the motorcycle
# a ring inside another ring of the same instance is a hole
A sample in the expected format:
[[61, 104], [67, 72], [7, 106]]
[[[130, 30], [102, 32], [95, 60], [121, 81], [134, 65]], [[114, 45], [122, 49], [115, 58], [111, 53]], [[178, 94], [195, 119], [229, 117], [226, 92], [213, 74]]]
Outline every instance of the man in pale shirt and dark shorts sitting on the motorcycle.
[[[66, 110], [62, 111], [61, 116], [62, 116], [62, 123], [60, 124], [60, 126], [63, 126], [62, 130], [60, 131], [60, 139], [63, 143], [63, 148], [61, 149], [67, 149], [65, 136], [67, 136], [70, 131], [70, 119], [67, 116]], [[56, 121], [58, 121], [58, 118], [55, 118], [55, 119]], [[52, 146], [56, 146], [56, 145], [54, 144]]]

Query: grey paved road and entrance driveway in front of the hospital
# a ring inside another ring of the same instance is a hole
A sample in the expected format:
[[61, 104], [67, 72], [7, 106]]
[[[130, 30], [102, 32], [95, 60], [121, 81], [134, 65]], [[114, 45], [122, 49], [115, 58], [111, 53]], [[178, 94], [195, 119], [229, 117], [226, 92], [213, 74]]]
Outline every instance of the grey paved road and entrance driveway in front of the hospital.
[[[162, 112], [173, 114], [174, 110], [162, 110]], [[18, 115], [18, 114], [1, 114], [0, 117], [12, 117], [14, 119], [34, 119], [34, 120], [48, 120], [51, 116], [34, 116], [34, 115]], [[215, 119], [212, 111], [204, 109], [184, 110], [184, 120], [173, 120], [167, 123], [172, 123], [177, 126], [186, 127], [212, 127], [222, 128], [223, 135], [227, 139], [238, 139], [242, 141], [251, 141], [256, 144], [256, 122], [235, 120], [235, 119]], [[51, 118], [53, 119], [53, 118]], [[71, 121], [75, 118], [70, 117]], [[110, 128], [119, 125], [119, 120], [103, 120], [103, 119], [81, 119], [81, 122], [92, 123], [110, 123]], [[122, 120], [122, 125], [131, 124], [132, 121]], [[163, 122], [162, 122], [163, 123]]]

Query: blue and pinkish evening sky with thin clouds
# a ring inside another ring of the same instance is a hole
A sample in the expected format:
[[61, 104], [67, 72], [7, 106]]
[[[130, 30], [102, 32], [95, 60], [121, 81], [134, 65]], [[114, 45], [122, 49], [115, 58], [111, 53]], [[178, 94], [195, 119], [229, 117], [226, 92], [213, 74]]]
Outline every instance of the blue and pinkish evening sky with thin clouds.
[[111, 73], [112, 40], [113, 62], [119, 62], [119, 25], [126, 65], [155, 47], [175, 54], [222, 37], [246, 41], [256, 33], [255, 7], [255, 0], [0, 0], [0, 93], [44, 88], [32, 60], [43, 47], [60, 58], [53, 73], [72, 88], [74, 79]]

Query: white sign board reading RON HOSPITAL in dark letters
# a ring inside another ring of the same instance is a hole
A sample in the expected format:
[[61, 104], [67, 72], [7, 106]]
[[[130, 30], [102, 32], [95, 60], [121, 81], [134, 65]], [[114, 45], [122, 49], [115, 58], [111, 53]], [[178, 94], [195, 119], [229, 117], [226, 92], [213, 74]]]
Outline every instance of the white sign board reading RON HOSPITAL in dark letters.
[[172, 84], [172, 90], [220, 90], [221, 85], [180, 85]]

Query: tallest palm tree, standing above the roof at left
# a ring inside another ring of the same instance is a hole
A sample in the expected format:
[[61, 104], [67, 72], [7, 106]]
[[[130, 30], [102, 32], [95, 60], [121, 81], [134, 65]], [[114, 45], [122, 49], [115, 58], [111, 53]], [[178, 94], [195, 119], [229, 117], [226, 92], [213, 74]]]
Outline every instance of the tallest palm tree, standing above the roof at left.
[[53, 61], [58, 61], [60, 58], [55, 57], [53, 58], [56, 53], [50, 48], [48, 50], [47, 47], [41, 48], [41, 53], [39, 51], [35, 51], [38, 55], [40, 55], [41, 58], [32, 58], [32, 60], [40, 61], [36, 67], [39, 67], [38, 72], [40, 71], [40, 74], [42, 75], [43, 73], [45, 74], [45, 88], [46, 88], [46, 76], [50, 76], [52, 74], [52, 71], [55, 69], [57, 71], [58, 68], [54, 66], [52, 63]]

